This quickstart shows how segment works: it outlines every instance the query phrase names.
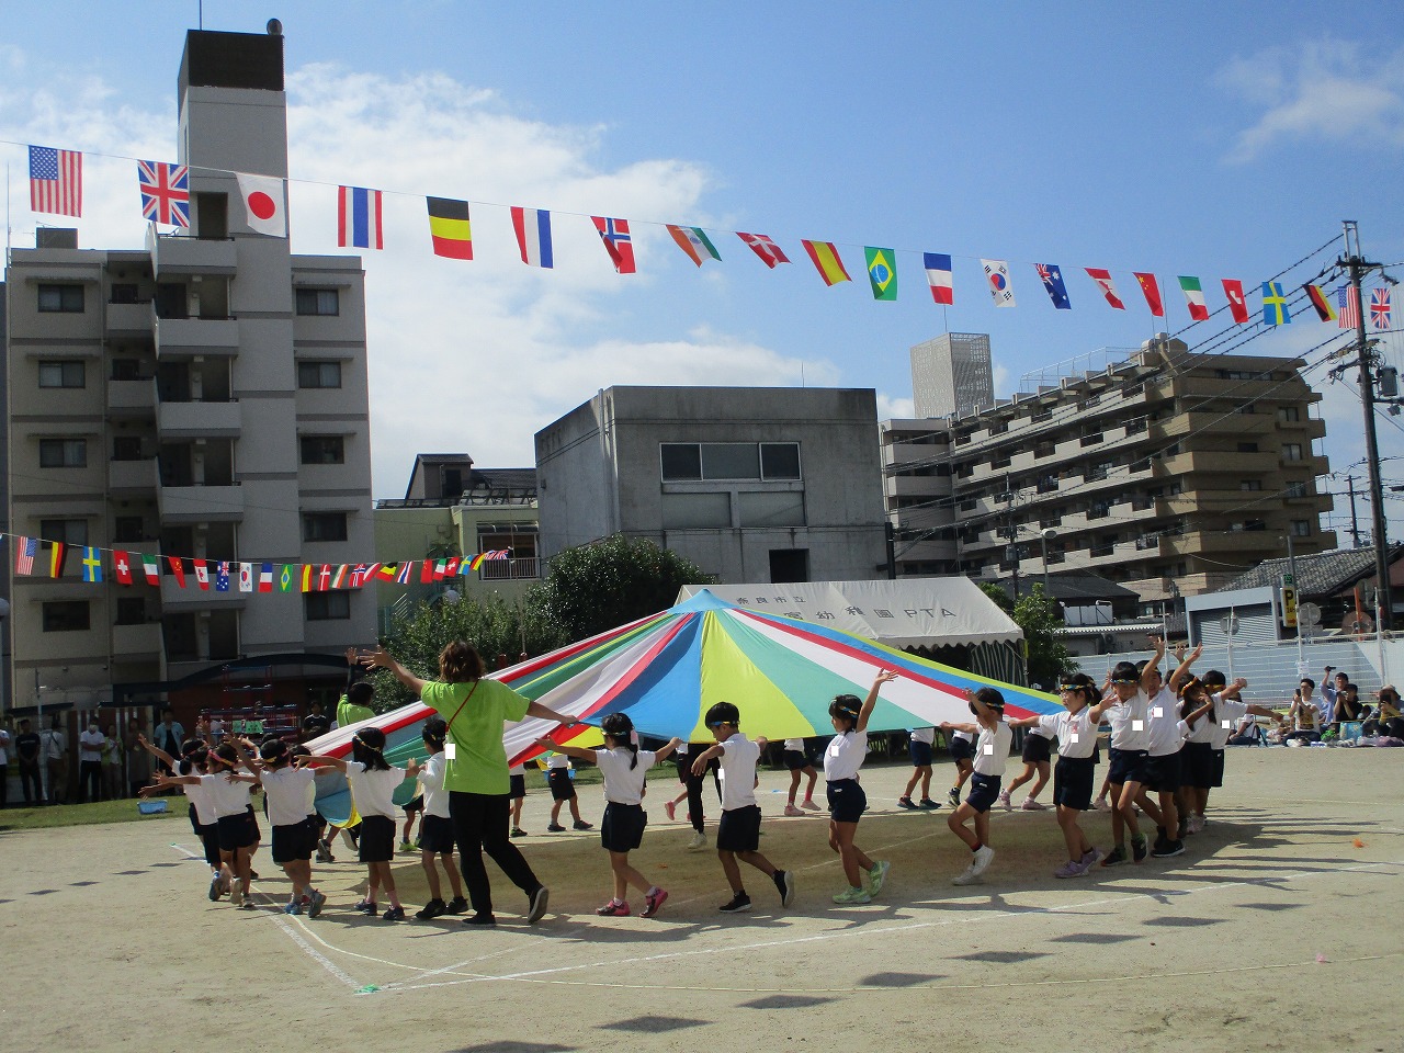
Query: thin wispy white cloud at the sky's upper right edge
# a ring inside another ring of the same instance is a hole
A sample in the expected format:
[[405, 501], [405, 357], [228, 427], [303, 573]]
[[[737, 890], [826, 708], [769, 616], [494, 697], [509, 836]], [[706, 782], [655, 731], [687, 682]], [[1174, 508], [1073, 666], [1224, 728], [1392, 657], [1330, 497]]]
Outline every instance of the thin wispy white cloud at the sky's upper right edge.
[[1366, 55], [1341, 41], [1269, 48], [1234, 59], [1217, 81], [1261, 110], [1237, 135], [1226, 159], [1233, 164], [1279, 142], [1404, 146], [1404, 52]]

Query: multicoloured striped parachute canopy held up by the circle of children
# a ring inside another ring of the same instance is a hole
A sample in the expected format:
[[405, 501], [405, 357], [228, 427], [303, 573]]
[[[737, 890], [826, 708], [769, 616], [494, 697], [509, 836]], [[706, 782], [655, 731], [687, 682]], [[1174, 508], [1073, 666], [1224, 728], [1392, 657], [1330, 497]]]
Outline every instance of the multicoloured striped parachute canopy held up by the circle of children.
[[[1000, 684], [949, 665], [918, 658], [827, 626], [723, 602], [702, 591], [667, 611], [562, 647], [491, 674], [534, 702], [597, 724], [625, 712], [642, 736], [712, 741], [703, 716], [715, 702], [733, 702], [750, 737], [810, 739], [833, 734], [828, 703], [834, 695], [863, 698], [882, 668], [900, 675], [885, 684], [869, 730], [885, 731], [970, 722], [966, 691], [998, 688], [1005, 716], [1057, 712], [1053, 695]], [[402, 706], [314, 743], [313, 753], [347, 755], [361, 727], [386, 734], [386, 758], [403, 764], [423, 757], [420, 726], [432, 716], [423, 703]], [[562, 729], [526, 719], [504, 730], [512, 762], [531, 760], [549, 734], [576, 743], [588, 727]], [[317, 807], [331, 821], [345, 821], [350, 800], [336, 774], [317, 779]], [[406, 800], [413, 788], [400, 788]]]

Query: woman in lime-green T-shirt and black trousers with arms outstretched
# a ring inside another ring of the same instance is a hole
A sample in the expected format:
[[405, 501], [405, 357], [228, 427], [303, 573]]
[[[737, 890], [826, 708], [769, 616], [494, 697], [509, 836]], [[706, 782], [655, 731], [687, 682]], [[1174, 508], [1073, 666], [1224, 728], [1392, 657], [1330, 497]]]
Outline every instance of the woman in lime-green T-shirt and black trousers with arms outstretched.
[[362, 654], [361, 664], [389, 670], [404, 687], [417, 692], [424, 705], [448, 722], [444, 786], [449, 792], [449, 817], [453, 820], [459, 865], [468, 883], [468, 899], [473, 904], [473, 914], [463, 918], [463, 924], [496, 924], [493, 890], [487, 882], [483, 852], [526, 893], [526, 922], [535, 924], [546, 913], [548, 892], [508, 837], [511, 778], [507, 774], [503, 723], [528, 716], [563, 724], [573, 724], [574, 719], [529, 702], [505, 684], [483, 680], [483, 660], [473, 644], [465, 640], [455, 640], [439, 653], [437, 681], [420, 680], [383, 647]]

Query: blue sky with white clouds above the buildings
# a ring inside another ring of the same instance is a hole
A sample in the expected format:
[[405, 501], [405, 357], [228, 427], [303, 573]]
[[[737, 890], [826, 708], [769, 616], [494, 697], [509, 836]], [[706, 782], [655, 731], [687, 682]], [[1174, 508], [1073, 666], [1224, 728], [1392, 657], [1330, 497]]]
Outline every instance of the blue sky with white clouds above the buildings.
[[[174, 157], [197, 8], [55, 0], [44, 28], [0, 14], [0, 138]], [[609, 385], [870, 386], [904, 416], [907, 350], [946, 329], [991, 334], [1008, 395], [1028, 371], [1184, 329], [1177, 275], [1223, 306], [1220, 278], [1252, 288], [1342, 219], [1372, 258], [1404, 260], [1404, 31], [1379, 4], [1323, 10], [206, 0], [204, 20], [284, 22], [295, 251], [338, 251], [334, 184], [396, 191], [365, 267], [375, 493], [397, 496], [417, 451], [529, 463], [538, 428]], [[32, 244], [22, 147], [0, 154], [13, 243]], [[90, 160], [83, 244], [140, 243], [131, 168]], [[430, 254], [424, 194], [475, 202], [473, 263]], [[557, 213], [555, 271], [517, 260], [514, 204]], [[591, 213], [633, 223], [637, 275], [614, 274]], [[723, 261], [695, 268], [660, 222], [705, 226]], [[793, 263], [767, 271], [734, 230]], [[855, 281], [826, 288], [806, 237], [838, 243]], [[865, 244], [897, 250], [896, 303], [872, 300]], [[955, 307], [932, 305], [922, 250], [956, 257]], [[980, 257], [1009, 261], [1016, 307], [991, 305]], [[1033, 263], [1063, 268], [1073, 310], [1053, 310]], [[1109, 268], [1129, 309], [1082, 267]], [[1165, 320], [1132, 271], [1160, 277]], [[1302, 354], [1335, 331], [1303, 314], [1245, 350]], [[1384, 351], [1404, 365], [1397, 340]], [[1344, 473], [1363, 456], [1359, 400], [1353, 378], [1321, 373]], [[462, 397], [425, 396], [445, 390]], [[1384, 458], [1404, 456], [1398, 424], [1382, 423]], [[1384, 469], [1404, 482], [1404, 461]]]

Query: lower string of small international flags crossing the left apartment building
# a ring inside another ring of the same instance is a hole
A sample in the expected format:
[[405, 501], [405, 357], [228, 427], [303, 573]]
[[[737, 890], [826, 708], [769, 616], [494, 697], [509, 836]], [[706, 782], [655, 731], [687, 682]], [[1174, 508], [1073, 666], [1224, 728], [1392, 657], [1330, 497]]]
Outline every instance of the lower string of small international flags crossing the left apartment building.
[[[0, 535], [3, 536], [6, 535]], [[69, 546], [18, 534], [8, 536], [14, 543], [15, 574], [60, 578], [72, 549], [83, 553], [80, 574], [83, 581], [90, 584], [111, 580], [119, 585], [147, 584], [160, 588], [164, 571], [171, 576], [177, 588], [195, 588], [204, 592], [331, 592], [382, 583], [428, 585], [468, 577], [490, 560], [511, 557], [511, 549], [490, 549], [473, 556], [411, 559], [400, 563], [241, 563]], [[41, 555], [45, 545], [49, 546], [48, 553]], [[107, 577], [108, 567], [111, 578]]]

